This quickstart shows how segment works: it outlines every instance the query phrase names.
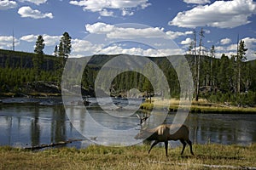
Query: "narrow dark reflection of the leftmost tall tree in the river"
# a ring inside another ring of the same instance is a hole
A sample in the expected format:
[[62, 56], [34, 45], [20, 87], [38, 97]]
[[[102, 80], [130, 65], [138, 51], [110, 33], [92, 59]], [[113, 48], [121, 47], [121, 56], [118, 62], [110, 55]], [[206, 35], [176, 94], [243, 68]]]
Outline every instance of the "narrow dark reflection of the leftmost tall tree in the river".
[[39, 120], [39, 108], [38, 105], [34, 107], [34, 114], [31, 122], [31, 145], [35, 146], [40, 143], [40, 125], [38, 123]]

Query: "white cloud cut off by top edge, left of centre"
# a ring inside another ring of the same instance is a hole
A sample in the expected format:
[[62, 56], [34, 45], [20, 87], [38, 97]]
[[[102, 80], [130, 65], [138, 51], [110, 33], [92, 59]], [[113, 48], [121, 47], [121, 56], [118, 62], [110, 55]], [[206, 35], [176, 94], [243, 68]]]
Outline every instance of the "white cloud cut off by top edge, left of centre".
[[82, 7], [84, 10], [89, 10], [91, 12], [99, 12], [100, 14], [102, 10], [107, 8], [112, 9], [121, 9], [123, 10], [122, 14], [132, 14], [132, 13], [124, 13], [124, 8], [147, 8], [150, 3], [148, 0], [81, 0], [81, 1], [70, 1], [70, 4], [77, 5]]

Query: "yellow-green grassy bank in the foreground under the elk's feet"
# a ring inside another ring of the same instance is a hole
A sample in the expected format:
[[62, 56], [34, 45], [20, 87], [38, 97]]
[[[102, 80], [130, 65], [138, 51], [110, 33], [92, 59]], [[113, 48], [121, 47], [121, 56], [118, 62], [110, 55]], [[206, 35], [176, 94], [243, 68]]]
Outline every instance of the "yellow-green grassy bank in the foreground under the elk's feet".
[[256, 167], [256, 144], [249, 146], [194, 144], [195, 156], [186, 148], [154, 147], [148, 155], [148, 145], [106, 147], [91, 145], [87, 149], [61, 148], [27, 151], [0, 147], [0, 169], [229, 169]]

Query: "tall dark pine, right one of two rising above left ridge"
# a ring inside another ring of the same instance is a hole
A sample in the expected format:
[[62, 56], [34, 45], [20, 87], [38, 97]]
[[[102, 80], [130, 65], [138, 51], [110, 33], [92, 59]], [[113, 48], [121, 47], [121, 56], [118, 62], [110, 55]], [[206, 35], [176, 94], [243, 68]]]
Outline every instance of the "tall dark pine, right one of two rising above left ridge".
[[59, 45], [59, 56], [63, 58], [63, 65], [67, 61], [68, 55], [71, 53], [71, 48], [71, 37], [66, 31], [62, 35], [61, 42]]

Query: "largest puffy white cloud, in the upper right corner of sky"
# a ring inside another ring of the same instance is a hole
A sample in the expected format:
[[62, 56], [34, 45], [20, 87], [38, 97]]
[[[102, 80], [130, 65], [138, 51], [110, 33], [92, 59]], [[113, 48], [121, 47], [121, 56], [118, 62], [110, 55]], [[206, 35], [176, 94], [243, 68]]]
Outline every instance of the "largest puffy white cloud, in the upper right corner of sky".
[[256, 3], [253, 0], [215, 1], [210, 5], [179, 12], [169, 25], [233, 28], [250, 23], [248, 18], [253, 14], [256, 14]]

